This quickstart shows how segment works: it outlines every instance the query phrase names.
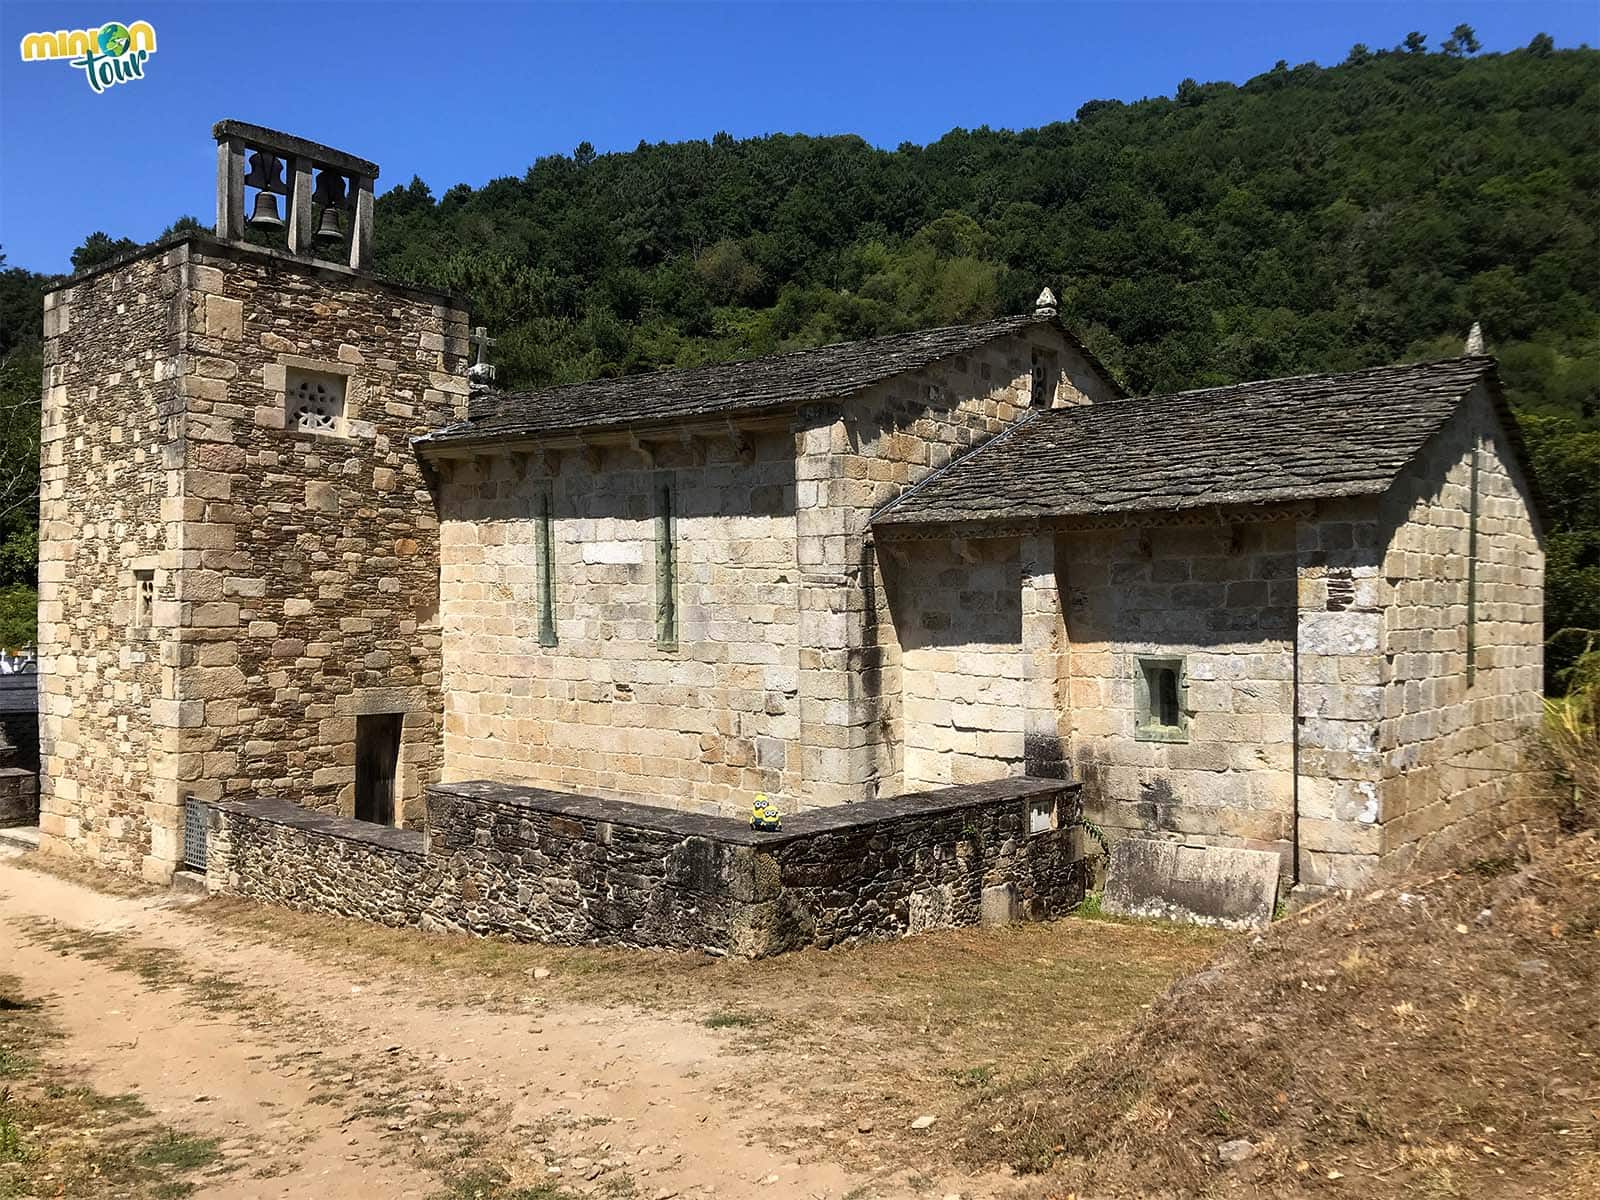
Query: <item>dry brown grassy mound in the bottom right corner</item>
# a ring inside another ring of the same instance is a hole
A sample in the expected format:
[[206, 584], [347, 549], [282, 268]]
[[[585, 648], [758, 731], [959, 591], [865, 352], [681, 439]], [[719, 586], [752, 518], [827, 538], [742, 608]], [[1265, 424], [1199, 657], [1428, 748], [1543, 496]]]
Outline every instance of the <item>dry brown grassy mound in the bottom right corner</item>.
[[[966, 1157], [1112, 1195], [1600, 1184], [1600, 842], [1235, 942], [1128, 1035], [970, 1114]], [[1235, 1168], [1218, 1144], [1246, 1138]]]

